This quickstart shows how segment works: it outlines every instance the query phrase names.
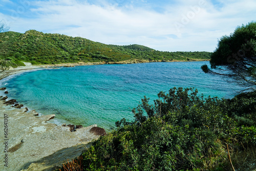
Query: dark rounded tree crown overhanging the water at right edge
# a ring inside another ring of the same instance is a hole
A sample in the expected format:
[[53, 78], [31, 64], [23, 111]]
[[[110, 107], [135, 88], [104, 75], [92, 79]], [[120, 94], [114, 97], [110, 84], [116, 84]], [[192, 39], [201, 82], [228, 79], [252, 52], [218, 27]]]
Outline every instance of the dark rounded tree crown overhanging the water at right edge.
[[232, 78], [245, 90], [256, 88], [256, 22], [237, 27], [229, 36], [220, 38], [211, 54], [210, 68], [203, 65], [205, 73]]

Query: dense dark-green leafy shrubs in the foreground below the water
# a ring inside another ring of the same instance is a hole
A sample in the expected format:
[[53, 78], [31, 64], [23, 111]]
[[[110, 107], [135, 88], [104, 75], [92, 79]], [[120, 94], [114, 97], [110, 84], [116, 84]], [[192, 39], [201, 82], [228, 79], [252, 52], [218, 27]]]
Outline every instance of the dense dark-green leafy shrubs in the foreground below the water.
[[[86, 170], [228, 170], [231, 152], [255, 148], [256, 92], [204, 98], [194, 89], [144, 97], [83, 154]], [[232, 149], [232, 150], [231, 150]]]

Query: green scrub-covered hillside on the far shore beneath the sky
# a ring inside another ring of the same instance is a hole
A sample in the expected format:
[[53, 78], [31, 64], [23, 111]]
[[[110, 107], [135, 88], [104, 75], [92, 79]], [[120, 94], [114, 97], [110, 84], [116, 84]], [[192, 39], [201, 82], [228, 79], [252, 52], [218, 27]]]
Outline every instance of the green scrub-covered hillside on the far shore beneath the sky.
[[81, 37], [42, 33], [0, 33], [0, 58], [10, 65], [55, 64], [67, 62], [117, 62], [129, 59], [191, 60], [209, 59], [210, 52], [162, 52], [141, 45], [105, 45]]

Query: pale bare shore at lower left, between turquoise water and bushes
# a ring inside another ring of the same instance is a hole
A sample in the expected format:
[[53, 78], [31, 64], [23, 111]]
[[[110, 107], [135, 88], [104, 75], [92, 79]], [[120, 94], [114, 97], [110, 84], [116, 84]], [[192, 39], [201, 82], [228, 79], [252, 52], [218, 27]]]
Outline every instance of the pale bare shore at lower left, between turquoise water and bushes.
[[[80, 156], [100, 136], [91, 131], [96, 124], [70, 132], [69, 126], [47, 122], [55, 115], [38, 117], [34, 114], [35, 111], [11, 108], [0, 101], [3, 131], [4, 115], [8, 115], [8, 153], [2, 153], [4, 145], [1, 145], [0, 153], [1, 159], [8, 154], [8, 167], [2, 161], [0, 170], [54, 170]], [[1, 144], [5, 143], [4, 139], [2, 134]]]

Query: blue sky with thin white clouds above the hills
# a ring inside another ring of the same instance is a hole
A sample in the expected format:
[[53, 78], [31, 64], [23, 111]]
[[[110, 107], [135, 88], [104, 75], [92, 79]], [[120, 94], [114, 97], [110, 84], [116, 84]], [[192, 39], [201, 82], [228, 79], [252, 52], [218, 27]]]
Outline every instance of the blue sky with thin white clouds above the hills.
[[37, 30], [159, 51], [213, 52], [218, 39], [256, 20], [255, 0], [0, 0], [10, 31]]

